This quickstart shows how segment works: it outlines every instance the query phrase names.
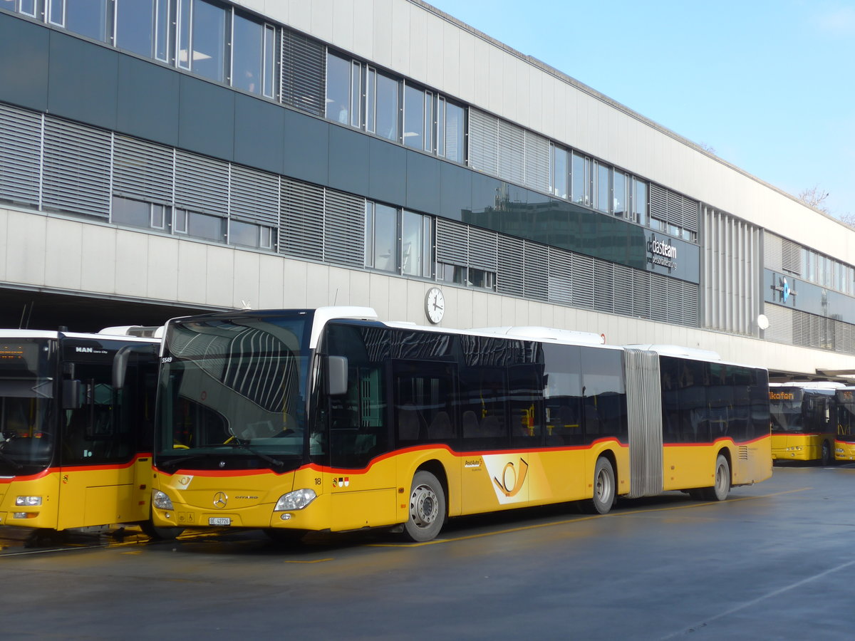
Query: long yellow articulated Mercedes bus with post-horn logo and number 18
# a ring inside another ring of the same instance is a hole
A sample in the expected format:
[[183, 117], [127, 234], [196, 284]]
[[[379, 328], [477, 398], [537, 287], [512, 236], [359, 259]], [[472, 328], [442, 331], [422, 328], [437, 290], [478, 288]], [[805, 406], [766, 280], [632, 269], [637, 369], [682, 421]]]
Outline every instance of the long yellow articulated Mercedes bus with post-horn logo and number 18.
[[605, 514], [668, 490], [723, 500], [769, 478], [764, 369], [577, 333], [367, 308], [170, 321], [154, 521], [428, 541], [458, 515], [569, 501]]

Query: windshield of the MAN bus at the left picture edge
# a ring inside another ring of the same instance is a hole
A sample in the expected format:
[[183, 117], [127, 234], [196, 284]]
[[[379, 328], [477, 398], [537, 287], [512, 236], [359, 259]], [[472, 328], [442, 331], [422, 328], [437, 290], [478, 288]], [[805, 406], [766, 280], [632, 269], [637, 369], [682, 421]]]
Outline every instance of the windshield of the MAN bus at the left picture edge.
[[47, 338], [0, 338], [0, 476], [50, 464], [55, 357]]

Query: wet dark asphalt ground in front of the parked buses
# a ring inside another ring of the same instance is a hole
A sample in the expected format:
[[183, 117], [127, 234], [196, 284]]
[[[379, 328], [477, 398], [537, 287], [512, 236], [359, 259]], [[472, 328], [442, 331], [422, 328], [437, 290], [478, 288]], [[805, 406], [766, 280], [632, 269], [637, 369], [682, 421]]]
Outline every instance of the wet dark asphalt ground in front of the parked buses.
[[[0, 528], [0, 637], [842, 639], [855, 629], [855, 466], [775, 467], [727, 501], [679, 492], [386, 532]], [[33, 543], [38, 545], [33, 546]]]

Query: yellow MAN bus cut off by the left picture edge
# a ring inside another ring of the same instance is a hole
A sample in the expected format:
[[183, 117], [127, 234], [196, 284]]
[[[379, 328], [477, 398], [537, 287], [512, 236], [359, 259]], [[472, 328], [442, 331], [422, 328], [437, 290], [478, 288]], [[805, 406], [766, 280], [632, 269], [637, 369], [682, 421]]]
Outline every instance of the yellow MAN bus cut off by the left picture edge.
[[177, 533], [150, 523], [160, 339], [127, 332], [0, 330], [0, 525]]

